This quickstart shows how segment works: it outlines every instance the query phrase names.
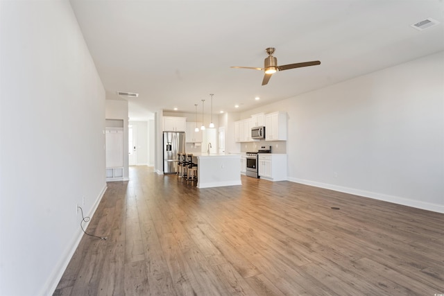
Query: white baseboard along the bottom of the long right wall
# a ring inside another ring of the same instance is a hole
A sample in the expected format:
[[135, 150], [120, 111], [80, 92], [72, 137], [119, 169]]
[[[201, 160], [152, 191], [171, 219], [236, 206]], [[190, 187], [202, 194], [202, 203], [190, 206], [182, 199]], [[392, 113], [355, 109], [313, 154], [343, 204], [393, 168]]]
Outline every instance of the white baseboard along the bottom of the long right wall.
[[364, 196], [365, 198], [373, 198], [374, 200], [382, 200], [384, 202], [393, 202], [395, 204], [402, 204], [407, 207], [415, 207], [418, 209], [425, 209], [427, 211], [436, 211], [437, 213], [444, 214], [444, 205], [443, 204], [432, 204], [430, 202], [422, 202], [420, 200], [411, 200], [408, 198], [401, 198], [399, 196], [394, 196], [394, 195], [375, 193], [375, 192], [371, 192], [371, 191], [348, 188], [348, 187], [344, 187], [344, 186], [337, 186], [337, 185], [326, 184], [326, 183], [321, 183], [321, 182], [314, 182], [314, 181], [310, 181], [310, 180], [302, 180], [302, 179], [298, 179], [298, 178], [290, 178], [289, 177], [288, 180], [291, 182], [295, 182], [295, 183], [320, 187], [320, 188], [324, 188], [324, 189], [330, 189], [330, 190], [339, 191], [339, 192], [343, 192], [343, 193], [350, 193], [353, 195]]

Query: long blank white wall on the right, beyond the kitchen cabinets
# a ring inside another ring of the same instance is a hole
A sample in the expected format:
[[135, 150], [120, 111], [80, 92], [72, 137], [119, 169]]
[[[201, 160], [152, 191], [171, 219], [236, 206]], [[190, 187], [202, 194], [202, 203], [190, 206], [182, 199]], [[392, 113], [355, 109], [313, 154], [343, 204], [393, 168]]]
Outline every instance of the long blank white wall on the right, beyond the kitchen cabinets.
[[278, 110], [289, 180], [444, 212], [444, 52], [250, 114]]

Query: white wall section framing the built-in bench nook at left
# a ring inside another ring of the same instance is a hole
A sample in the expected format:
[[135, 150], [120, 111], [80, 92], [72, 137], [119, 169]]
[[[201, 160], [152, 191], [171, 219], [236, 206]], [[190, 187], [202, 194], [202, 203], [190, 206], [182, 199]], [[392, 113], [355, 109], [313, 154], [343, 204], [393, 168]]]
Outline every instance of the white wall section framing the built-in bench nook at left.
[[128, 101], [117, 98], [116, 94], [106, 93], [106, 119], [123, 120], [123, 180], [129, 180], [128, 171]]

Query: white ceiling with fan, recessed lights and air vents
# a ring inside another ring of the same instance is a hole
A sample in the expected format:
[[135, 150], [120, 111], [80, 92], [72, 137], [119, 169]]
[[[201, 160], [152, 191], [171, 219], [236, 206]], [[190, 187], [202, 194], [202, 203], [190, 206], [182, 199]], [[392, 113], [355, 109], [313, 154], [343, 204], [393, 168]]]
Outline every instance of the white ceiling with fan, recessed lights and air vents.
[[[442, 0], [71, 0], [107, 91], [137, 92], [130, 119], [150, 112], [245, 111], [444, 50]], [[431, 17], [440, 24], [411, 27]], [[278, 64], [262, 86], [265, 49]], [[417, 73], [412, 73], [417, 75]], [[255, 101], [255, 96], [261, 99]], [[239, 104], [235, 109], [234, 105]]]

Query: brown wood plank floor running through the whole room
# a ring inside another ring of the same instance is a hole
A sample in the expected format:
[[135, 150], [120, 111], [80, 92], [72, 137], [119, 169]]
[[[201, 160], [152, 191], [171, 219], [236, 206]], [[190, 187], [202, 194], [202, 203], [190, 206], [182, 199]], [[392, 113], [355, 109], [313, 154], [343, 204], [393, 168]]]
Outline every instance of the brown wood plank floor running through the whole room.
[[[293, 182], [197, 189], [130, 167], [53, 295], [444, 293], [444, 214]], [[339, 207], [339, 210], [331, 209]]]

